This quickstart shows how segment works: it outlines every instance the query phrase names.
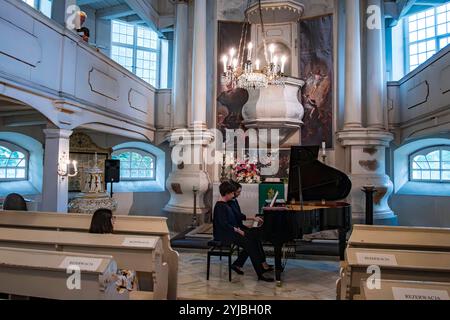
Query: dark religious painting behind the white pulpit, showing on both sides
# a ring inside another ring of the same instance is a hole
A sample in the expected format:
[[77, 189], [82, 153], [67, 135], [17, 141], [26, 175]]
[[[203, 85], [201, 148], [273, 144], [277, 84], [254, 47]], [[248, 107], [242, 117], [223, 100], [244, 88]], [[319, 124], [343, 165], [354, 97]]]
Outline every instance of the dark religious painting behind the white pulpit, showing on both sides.
[[[244, 129], [242, 108], [248, 101], [244, 89], [232, 89], [222, 84], [223, 64], [220, 55], [240, 43], [243, 23], [219, 21], [217, 59], [217, 129], [225, 138], [227, 129]], [[298, 93], [305, 116], [302, 145], [322, 145], [333, 148], [333, 17], [322, 16], [299, 23], [299, 77], [305, 86]], [[250, 31], [247, 35], [247, 43]], [[247, 150], [248, 152], [248, 150]], [[280, 170], [275, 177], [286, 179], [289, 150], [280, 150]]]

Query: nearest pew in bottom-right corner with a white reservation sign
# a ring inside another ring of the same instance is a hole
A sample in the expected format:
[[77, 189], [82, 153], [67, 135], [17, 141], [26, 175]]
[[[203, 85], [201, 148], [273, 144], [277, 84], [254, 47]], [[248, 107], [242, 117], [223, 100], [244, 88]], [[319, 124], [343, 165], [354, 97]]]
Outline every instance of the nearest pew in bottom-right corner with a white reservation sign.
[[380, 289], [364, 282], [361, 300], [450, 300], [450, 283], [381, 280]]

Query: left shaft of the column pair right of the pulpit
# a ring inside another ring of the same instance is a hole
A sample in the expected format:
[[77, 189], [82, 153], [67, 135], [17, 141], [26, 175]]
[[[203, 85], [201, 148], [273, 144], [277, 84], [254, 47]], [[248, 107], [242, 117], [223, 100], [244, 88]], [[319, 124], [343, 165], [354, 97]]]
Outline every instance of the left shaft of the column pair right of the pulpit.
[[344, 129], [361, 127], [360, 0], [345, 1]]

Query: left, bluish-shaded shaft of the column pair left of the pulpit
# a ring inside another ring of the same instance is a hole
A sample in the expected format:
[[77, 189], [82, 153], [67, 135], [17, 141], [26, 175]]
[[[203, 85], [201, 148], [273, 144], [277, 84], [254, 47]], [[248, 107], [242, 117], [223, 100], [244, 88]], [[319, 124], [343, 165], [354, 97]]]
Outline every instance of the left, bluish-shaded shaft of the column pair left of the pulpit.
[[172, 89], [174, 129], [185, 128], [187, 126], [189, 6], [186, 0], [177, 1], [176, 15], [174, 85]]

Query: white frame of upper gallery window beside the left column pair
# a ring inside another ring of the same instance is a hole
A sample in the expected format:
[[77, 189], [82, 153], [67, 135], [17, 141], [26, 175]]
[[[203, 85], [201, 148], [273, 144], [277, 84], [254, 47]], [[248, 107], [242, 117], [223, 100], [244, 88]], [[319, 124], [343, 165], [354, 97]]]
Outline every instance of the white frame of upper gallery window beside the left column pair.
[[[133, 27], [133, 45], [130, 44], [126, 44], [126, 43], [121, 43], [121, 42], [114, 42], [113, 41], [113, 23], [117, 21], [119, 23], [123, 23], [123, 24], [127, 24]], [[147, 25], [142, 25], [142, 24], [134, 24], [134, 23], [128, 23], [126, 21], [121, 21], [121, 20], [117, 20], [117, 19], [113, 19], [111, 20], [111, 53], [110, 53], [110, 58], [112, 59], [112, 47], [116, 46], [116, 47], [123, 47], [123, 48], [128, 48], [131, 49], [133, 51], [133, 58], [132, 58], [132, 65], [131, 65], [131, 72], [138, 77], [139, 79], [141, 79], [142, 81], [145, 81], [145, 83], [148, 83], [149, 85], [151, 85], [152, 87], [155, 88], [159, 88], [160, 87], [160, 63], [161, 63], [161, 39], [158, 36], [158, 40], [156, 41], [156, 49], [152, 49], [152, 48], [146, 48], [146, 47], [141, 47], [138, 46], [138, 27], [144, 27], [147, 29], [150, 29], [150, 31], [152, 32], [156, 32], [155, 30], [153, 30], [151, 27], [147, 26]], [[147, 82], [147, 80], [144, 80], [143, 78], [139, 77], [136, 74], [136, 69], [137, 69], [137, 51], [141, 50], [141, 51], [145, 51], [145, 52], [149, 52], [149, 53], [156, 53], [156, 79], [155, 79], [155, 85], [151, 84], [150, 82]], [[114, 60], [114, 59], [113, 59]], [[114, 60], [115, 61], [115, 60]], [[117, 62], [117, 61], [116, 61]], [[118, 63], [118, 62], [117, 62]], [[120, 65], [120, 63], [118, 63]], [[123, 68], [125, 68], [124, 66], [122, 66]], [[127, 69], [127, 68], [125, 68]], [[127, 69], [128, 70], [128, 69]], [[130, 71], [130, 70], [128, 70]]]

